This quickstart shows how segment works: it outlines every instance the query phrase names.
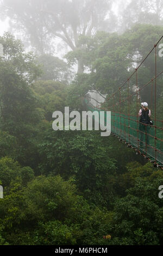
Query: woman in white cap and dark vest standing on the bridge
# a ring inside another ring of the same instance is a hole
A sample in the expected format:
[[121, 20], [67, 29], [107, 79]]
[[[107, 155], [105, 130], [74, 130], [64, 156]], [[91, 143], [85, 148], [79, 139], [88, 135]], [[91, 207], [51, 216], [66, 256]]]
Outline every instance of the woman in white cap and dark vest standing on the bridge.
[[139, 111], [139, 131], [140, 131], [140, 147], [143, 148], [143, 137], [144, 134], [146, 136], [146, 147], [149, 146], [149, 124], [150, 124], [150, 117], [151, 117], [151, 110], [148, 109], [148, 103], [142, 102], [141, 109]]

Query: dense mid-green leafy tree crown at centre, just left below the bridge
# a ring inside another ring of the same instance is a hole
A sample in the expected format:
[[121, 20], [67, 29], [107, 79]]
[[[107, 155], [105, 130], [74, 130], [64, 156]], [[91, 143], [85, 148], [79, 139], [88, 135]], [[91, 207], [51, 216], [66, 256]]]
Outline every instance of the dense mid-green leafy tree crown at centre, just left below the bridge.
[[[115, 193], [115, 161], [108, 157], [99, 133], [48, 131], [40, 144], [43, 173], [73, 176], [80, 191], [91, 202], [107, 204]], [[46, 170], [46, 172], [45, 172]]]

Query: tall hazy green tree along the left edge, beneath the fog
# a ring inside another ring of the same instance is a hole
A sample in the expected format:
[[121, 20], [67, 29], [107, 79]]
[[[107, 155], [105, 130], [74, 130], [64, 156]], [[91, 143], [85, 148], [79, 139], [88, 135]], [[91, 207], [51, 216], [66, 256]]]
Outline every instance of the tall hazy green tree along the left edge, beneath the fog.
[[[5, 33], [0, 42], [5, 57], [0, 59], [0, 129], [5, 132], [2, 156], [15, 157], [16, 154], [16, 159], [24, 165], [29, 162], [34, 165], [32, 156], [36, 157], [36, 126], [41, 120], [36, 97], [29, 84], [40, 74], [40, 69], [33, 54], [25, 53], [21, 42], [14, 36]], [[10, 147], [8, 152], [5, 138], [8, 138]], [[15, 149], [11, 154], [12, 143]]]

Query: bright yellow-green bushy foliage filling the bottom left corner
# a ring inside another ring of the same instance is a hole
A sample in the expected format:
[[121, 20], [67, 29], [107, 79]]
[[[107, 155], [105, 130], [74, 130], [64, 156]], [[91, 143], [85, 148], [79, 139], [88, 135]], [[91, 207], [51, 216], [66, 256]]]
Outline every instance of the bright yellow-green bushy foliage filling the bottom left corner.
[[71, 180], [39, 176], [23, 190], [20, 184], [12, 182], [0, 202], [4, 237], [11, 245], [100, 244], [109, 232], [112, 213], [91, 209]]

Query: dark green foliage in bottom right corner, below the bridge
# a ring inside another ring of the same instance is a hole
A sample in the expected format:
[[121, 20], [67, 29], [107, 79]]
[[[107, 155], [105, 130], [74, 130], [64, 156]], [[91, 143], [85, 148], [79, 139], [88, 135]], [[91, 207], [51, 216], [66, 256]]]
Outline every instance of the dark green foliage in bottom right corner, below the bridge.
[[112, 243], [120, 237], [121, 240], [130, 239], [132, 245], [162, 244], [163, 204], [158, 197], [158, 188], [163, 182], [162, 172], [152, 173], [148, 164], [142, 169], [133, 166], [133, 173], [138, 170], [143, 178], [137, 176], [127, 196], [115, 204], [112, 228], [115, 241], [113, 239]]

